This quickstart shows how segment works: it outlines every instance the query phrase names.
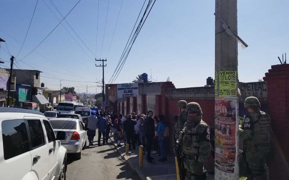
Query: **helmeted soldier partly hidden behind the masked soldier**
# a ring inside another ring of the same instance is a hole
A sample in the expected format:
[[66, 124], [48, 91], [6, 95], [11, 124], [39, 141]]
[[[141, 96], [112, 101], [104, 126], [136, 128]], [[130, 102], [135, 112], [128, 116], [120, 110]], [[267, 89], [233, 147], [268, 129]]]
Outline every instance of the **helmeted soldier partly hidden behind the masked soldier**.
[[186, 115], [186, 106], [187, 102], [184, 100], [181, 100], [178, 102], [178, 108], [179, 108], [179, 115], [175, 116], [174, 118], [177, 118], [176, 120], [176, 139], [179, 139], [179, 132], [183, 130], [184, 124], [187, 121], [187, 115]]

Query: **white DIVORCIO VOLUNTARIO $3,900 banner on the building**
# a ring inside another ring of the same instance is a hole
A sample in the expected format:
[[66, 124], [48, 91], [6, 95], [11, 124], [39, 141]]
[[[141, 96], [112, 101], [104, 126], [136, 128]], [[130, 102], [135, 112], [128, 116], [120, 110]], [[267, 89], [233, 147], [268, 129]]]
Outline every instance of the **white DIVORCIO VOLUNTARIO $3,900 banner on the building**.
[[125, 83], [117, 85], [117, 98], [138, 95], [138, 83]]

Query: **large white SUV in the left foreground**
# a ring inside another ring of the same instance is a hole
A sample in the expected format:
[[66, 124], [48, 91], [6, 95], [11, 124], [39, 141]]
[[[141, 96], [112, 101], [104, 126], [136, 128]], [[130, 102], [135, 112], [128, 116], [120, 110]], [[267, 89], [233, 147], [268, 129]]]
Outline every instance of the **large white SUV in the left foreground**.
[[1, 180], [65, 180], [67, 150], [38, 111], [0, 107]]

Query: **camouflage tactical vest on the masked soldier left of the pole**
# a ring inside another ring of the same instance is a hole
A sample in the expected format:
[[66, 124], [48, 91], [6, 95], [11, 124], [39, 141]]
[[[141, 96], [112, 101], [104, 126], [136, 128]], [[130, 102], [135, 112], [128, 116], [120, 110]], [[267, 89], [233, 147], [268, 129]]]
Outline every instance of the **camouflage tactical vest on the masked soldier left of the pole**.
[[188, 128], [187, 123], [185, 124], [183, 128], [183, 137], [180, 137], [183, 144], [183, 153], [188, 155], [199, 154], [200, 141], [198, 138], [198, 127], [201, 123], [205, 124], [205, 122], [201, 120], [195, 127], [192, 128]]

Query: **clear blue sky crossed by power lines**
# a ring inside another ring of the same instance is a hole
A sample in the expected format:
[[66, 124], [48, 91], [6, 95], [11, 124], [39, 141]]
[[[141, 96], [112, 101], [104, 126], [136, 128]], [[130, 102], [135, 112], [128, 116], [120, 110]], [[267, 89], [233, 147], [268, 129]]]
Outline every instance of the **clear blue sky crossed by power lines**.
[[[6, 40], [14, 56], [20, 50], [18, 43], [7, 34], [23, 42], [37, 0], [1, 0], [0, 37]], [[49, 0], [39, 0], [24, 47], [17, 59], [30, 52], [59, 23], [51, 11], [62, 19]], [[66, 15], [78, 0], [52, 0], [59, 11]], [[110, 51], [108, 49], [122, 0], [110, 0], [106, 30], [101, 53], [108, 0], [81, 0], [67, 16], [67, 21], [85, 44], [100, 58], [107, 58], [105, 82], [113, 74], [132, 27], [143, 4], [143, 0], [123, 0], [119, 21]], [[238, 71], [241, 82], [258, 81], [271, 65], [279, 64], [277, 56], [288, 52], [288, 9], [285, 0], [238, 1], [238, 34], [249, 45], [242, 50], [238, 45]], [[167, 77], [176, 88], [203, 86], [208, 76], [214, 76], [214, 1], [157, 0], [145, 22], [129, 57], [115, 83], [132, 81], [143, 72], [157, 81]], [[25, 59], [19, 62], [22, 69], [38, 69], [41, 76], [75, 81], [100, 81], [102, 68], [94, 66], [92, 55], [73, 31], [63, 21], [73, 37], [86, 53], [75, 43], [62, 25]], [[5, 34], [7, 33], [7, 34]], [[98, 32], [98, 33], [97, 33]], [[98, 37], [98, 38], [96, 38]], [[27, 48], [29, 47], [29, 48]], [[10, 55], [1, 43], [0, 58], [8, 61]], [[101, 56], [100, 56], [101, 53]], [[107, 55], [108, 53], [108, 55]], [[43, 58], [50, 59], [47, 60]], [[289, 55], [288, 55], [289, 58]], [[8, 62], [1, 64], [9, 66]], [[31, 67], [32, 66], [32, 67]], [[50, 89], [59, 89], [59, 80], [40, 77]], [[94, 93], [95, 83], [65, 82], [62, 86], [75, 86], [76, 91]], [[97, 89], [99, 93], [100, 88]]]

